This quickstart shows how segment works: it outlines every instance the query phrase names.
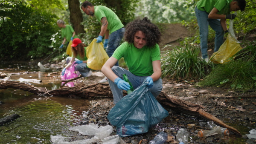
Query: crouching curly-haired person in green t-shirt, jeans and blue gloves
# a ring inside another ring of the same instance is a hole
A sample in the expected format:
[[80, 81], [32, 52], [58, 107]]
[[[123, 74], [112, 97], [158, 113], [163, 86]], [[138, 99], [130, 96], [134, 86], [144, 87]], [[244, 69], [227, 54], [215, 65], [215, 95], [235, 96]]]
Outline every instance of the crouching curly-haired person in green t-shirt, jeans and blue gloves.
[[[143, 84], [144, 80], [147, 81], [154, 97], [157, 97], [163, 88], [160, 48], [157, 44], [160, 43], [160, 30], [147, 17], [128, 23], [125, 29], [126, 42], [115, 50], [102, 67], [113, 93], [114, 104], [123, 98], [122, 90], [130, 89], [130, 85], [121, 79], [123, 74], [128, 76], [134, 89]], [[114, 66], [122, 57], [129, 71]]]

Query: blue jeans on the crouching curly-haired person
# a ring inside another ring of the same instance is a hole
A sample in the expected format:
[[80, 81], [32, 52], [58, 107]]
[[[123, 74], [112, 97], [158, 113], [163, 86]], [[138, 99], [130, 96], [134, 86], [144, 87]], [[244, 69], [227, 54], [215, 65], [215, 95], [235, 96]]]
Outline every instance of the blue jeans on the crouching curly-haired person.
[[[129, 72], [128, 70], [123, 69], [122, 67], [119, 67], [119, 66], [113, 66], [112, 67], [112, 71], [121, 79], [123, 79], [122, 75], [126, 74], [134, 89], [136, 89], [138, 86], [140, 86], [143, 83], [143, 81], [147, 77], [150, 76], [150, 75], [143, 76], [143, 77], [137, 76], [137, 75], [134, 75], [131, 72]], [[111, 89], [112, 94], [113, 94], [114, 104], [116, 104], [118, 101], [120, 101], [124, 97], [122, 95], [123, 90], [119, 89], [117, 87], [117, 85], [113, 81], [111, 81], [109, 79], [108, 79], [108, 83], [109, 83], [110, 89]], [[162, 79], [160, 78], [159, 80], [154, 81], [153, 87], [151, 87], [149, 89], [149, 91], [156, 98], [160, 94], [162, 89], [163, 89], [163, 82], [162, 82]]]

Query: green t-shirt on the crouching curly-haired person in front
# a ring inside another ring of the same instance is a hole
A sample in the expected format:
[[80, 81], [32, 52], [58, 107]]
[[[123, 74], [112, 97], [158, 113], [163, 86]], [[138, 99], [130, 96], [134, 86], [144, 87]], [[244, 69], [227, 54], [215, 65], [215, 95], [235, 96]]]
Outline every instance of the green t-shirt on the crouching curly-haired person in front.
[[152, 61], [161, 59], [158, 44], [137, 49], [133, 43], [128, 42], [122, 43], [115, 50], [112, 57], [117, 60], [123, 57], [129, 71], [137, 76], [152, 75], [154, 72]]

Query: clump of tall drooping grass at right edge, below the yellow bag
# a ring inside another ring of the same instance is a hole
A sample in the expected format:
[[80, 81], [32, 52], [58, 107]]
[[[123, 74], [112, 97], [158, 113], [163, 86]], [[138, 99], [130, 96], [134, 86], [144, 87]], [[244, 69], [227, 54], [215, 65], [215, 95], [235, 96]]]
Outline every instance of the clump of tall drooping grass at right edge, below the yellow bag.
[[236, 59], [215, 66], [212, 72], [198, 83], [201, 86], [227, 86], [231, 89], [255, 88], [256, 49], [250, 45], [236, 54]]

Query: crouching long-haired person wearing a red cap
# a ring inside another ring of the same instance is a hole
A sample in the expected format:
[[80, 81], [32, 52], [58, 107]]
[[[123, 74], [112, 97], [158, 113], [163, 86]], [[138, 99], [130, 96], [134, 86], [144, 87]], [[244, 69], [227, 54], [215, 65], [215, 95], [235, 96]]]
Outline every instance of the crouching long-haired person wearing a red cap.
[[87, 67], [87, 57], [86, 57], [86, 47], [84, 43], [79, 38], [75, 38], [71, 44], [72, 47], [72, 57], [67, 57], [66, 62], [67, 66], [65, 66], [62, 70], [62, 75], [65, 74], [66, 69], [68, 69], [74, 61], [78, 65], [76, 65], [75, 71], [79, 71], [82, 77], [89, 77], [92, 74], [90, 68]]

